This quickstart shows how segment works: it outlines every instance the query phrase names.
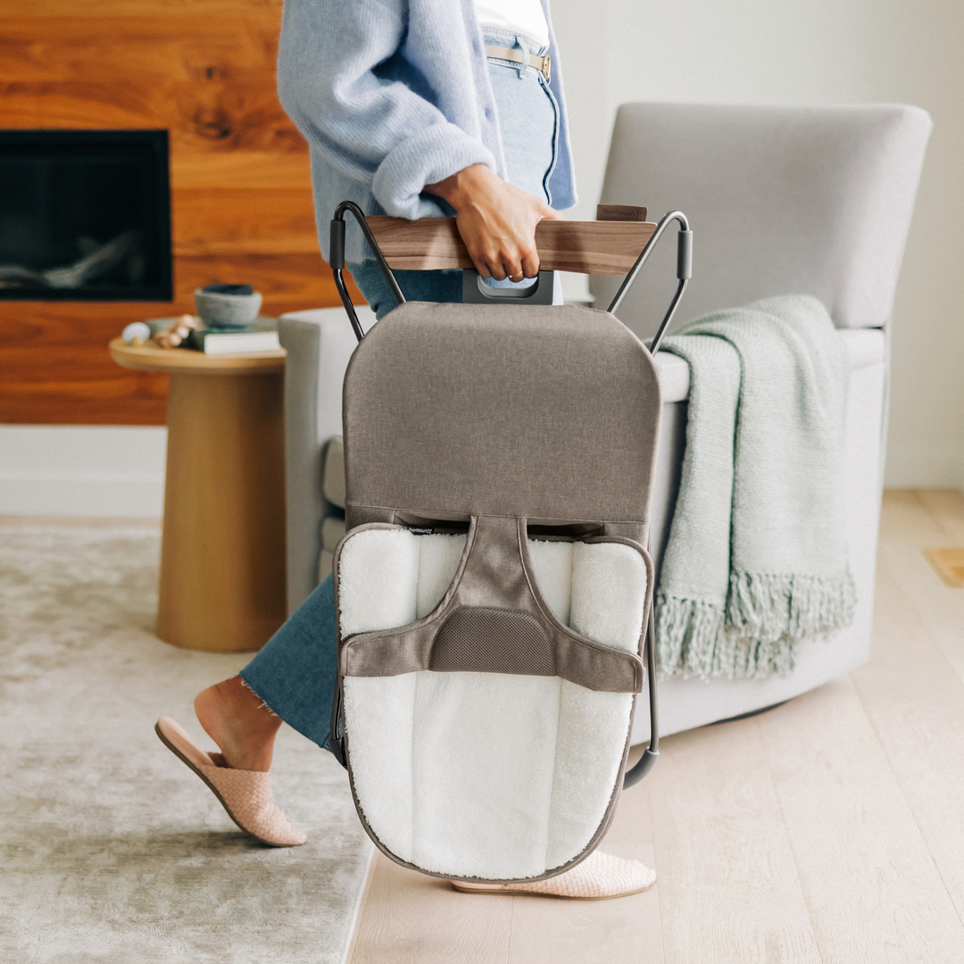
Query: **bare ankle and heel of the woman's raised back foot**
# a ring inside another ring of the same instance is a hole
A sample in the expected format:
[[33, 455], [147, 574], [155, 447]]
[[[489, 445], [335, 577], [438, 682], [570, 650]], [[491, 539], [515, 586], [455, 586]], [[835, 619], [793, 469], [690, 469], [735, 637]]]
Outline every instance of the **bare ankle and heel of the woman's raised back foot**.
[[271, 769], [281, 720], [240, 676], [202, 690], [194, 711], [204, 733], [218, 744], [226, 765], [262, 773]]

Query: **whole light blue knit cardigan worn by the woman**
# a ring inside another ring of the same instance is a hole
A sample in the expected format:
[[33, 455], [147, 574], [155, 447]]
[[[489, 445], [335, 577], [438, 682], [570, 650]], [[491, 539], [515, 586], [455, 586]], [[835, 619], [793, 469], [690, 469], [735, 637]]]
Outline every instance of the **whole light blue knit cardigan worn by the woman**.
[[[561, 114], [549, 187], [563, 209], [576, 203], [576, 181], [549, 0], [542, 3]], [[472, 0], [285, 0], [278, 92], [311, 149], [326, 258], [339, 201], [368, 214], [439, 216], [451, 211], [422, 194], [426, 184], [469, 164], [506, 176]], [[350, 225], [347, 260], [363, 259], [362, 244]]]

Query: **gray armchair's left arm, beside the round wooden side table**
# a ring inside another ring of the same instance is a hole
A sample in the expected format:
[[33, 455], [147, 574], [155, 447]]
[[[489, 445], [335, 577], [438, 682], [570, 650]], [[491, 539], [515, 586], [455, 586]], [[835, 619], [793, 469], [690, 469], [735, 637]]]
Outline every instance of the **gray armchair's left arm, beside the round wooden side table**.
[[[368, 329], [375, 316], [358, 309]], [[288, 356], [284, 365], [284, 466], [287, 599], [292, 613], [317, 585], [321, 522], [322, 454], [341, 434], [341, 383], [357, 341], [342, 308], [292, 311], [278, 325]]]

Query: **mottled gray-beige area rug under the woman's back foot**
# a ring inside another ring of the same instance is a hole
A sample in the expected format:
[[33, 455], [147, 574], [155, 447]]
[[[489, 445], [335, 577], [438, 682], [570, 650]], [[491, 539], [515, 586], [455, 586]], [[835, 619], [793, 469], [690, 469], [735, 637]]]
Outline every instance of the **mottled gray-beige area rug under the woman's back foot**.
[[342, 960], [372, 847], [344, 771], [282, 728], [275, 798], [308, 834], [239, 831], [154, 736], [250, 658], [152, 632], [149, 530], [0, 529], [0, 961]]

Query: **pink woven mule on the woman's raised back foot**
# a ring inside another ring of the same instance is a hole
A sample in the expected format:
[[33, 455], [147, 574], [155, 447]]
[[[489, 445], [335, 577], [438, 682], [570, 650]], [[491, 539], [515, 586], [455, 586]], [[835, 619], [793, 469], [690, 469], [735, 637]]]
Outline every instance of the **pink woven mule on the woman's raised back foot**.
[[242, 830], [272, 846], [299, 846], [308, 840], [275, 806], [267, 773], [219, 766], [217, 759], [221, 755], [205, 753], [170, 716], [162, 716], [154, 732], [174, 756], [187, 763], [210, 787], [228, 811], [228, 817]]

